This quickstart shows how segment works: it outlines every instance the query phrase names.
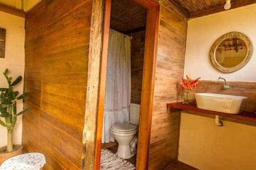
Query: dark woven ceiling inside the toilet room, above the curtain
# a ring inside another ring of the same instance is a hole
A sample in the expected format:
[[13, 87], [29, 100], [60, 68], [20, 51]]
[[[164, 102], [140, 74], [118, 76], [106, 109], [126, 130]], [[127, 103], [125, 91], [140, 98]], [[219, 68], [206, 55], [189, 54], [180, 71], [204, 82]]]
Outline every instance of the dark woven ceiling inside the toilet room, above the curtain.
[[110, 28], [124, 34], [143, 30], [146, 13], [146, 9], [131, 0], [112, 0]]

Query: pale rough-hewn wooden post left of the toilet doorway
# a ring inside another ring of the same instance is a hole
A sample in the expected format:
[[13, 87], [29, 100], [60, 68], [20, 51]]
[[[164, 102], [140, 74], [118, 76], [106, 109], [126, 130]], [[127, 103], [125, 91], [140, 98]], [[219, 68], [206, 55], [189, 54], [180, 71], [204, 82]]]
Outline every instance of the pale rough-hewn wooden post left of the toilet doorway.
[[[87, 101], [83, 130], [83, 153], [85, 153], [85, 155], [83, 156], [84, 160], [82, 162], [82, 168], [86, 170], [93, 170], [95, 168], [95, 159], [99, 161], [98, 159], [100, 158], [100, 155], [97, 155], [95, 152], [96, 150], [98, 151], [100, 147], [100, 145], [96, 147], [96, 143], [98, 143], [96, 140], [99, 140], [96, 133], [97, 115], [99, 102], [102, 103], [98, 96], [101, 97], [104, 95], [102, 94], [102, 90], [99, 90], [100, 87], [102, 87], [102, 85], [100, 86], [100, 69], [102, 55], [103, 10], [104, 0], [93, 0], [88, 61]], [[99, 120], [99, 122], [100, 121], [102, 120]], [[100, 127], [98, 127], [98, 129], [100, 129]]]

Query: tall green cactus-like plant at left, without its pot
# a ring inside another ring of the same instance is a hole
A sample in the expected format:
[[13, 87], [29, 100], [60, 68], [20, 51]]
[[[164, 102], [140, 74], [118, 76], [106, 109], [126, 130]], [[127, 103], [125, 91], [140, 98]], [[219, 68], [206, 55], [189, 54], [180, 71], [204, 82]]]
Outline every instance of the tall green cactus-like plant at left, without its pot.
[[28, 93], [25, 92], [22, 95], [18, 95], [18, 91], [13, 91], [13, 87], [22, 80], [22, 76], [18, 76], [14, 81], [12, 81], [12, 77], [7, 76], [8, 71], [8, 69], [5, 70], [4, 76], [8, 82], [9, 87], [0, 88], [0, 116], [4, 117], [5, 119], [5, 122], [0, 119], [0, 124], [7, 128], [7, 152], [9, 153], [13, 152], [12, 133], [16, 124], [17, 116], [28, 112], [29, 109], [24, 109], [23, 111], [17, 113], [17, 100], [23, 100], [28, 95]]

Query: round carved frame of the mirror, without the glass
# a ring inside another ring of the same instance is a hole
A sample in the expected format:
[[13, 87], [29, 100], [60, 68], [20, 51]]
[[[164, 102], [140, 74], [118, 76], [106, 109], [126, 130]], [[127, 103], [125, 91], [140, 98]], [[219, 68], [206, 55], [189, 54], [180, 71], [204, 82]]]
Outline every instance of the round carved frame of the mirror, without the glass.
[[[220, 45], [220, 43], [222, 43], [225, 39], [228, 39], [228, 38], [240, 38], [245, 42], [246, 47], [247, 47], [247, 52], [246, 52], [246, 56], [245, 56], [244, 60], [240, 64], [238, 64], [234, 67], [223, 67], [216, 60], [217, 47]], [[243, 68], [250, 61], [252, 54], [253, 54], [253, 45], [252, 45], [252, 42], [249, 37], [247, 37], [245, 34], [240, 33], [240, 32], [229, 32], [229, 33], [222, 35], [220, 38], [218, 38], [214, 42], [214, 44], [211, 46], [210, 61], [216, 69], [218, 69], [222, 72], [230, 73], [230, 72], [234, 72], [234, 71], [237, 71], [237, 70]]]

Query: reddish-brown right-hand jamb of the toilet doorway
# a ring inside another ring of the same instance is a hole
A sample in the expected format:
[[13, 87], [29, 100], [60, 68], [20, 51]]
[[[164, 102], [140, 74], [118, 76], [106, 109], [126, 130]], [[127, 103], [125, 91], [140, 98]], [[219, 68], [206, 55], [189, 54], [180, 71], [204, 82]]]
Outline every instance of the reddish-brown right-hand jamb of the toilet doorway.
[[160, 7], [147, 10], [136, 169], [148, 169]]

